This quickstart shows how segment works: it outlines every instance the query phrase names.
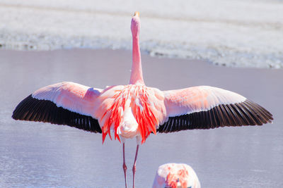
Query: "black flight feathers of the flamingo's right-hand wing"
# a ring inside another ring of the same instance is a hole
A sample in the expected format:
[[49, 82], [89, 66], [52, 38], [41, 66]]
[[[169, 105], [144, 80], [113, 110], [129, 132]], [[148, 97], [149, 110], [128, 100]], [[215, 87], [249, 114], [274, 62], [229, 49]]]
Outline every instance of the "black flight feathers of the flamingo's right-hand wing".
[[[159, 125], [157, 132], [262, 125], [271, 123], [272, 120], [272, 114], [269, 111], [252, 101], [246, 100], [238, 104], [221, 104], [209, 111], [169, 117], [166, 123]], [[180, 125], [181, 123], [182, 125]]]

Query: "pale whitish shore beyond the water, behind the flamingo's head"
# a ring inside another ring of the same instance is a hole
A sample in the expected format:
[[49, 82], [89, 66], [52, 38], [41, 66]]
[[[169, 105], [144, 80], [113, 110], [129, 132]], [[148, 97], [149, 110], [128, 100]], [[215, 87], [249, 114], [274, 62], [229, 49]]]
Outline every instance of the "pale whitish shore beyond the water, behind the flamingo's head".
[[6, 49], [131, 49], [141, 14], [141, 49], [233, 67], [283, 67], [283, 1], [0, 1]]

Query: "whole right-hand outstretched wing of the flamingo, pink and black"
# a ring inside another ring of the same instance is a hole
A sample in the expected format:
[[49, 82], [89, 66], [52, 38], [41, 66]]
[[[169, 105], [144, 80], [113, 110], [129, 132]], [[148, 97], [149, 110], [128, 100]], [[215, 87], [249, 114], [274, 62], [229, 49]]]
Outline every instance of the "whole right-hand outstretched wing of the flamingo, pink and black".
[[271, 123], [272, 114], [244, 96], [217, 87], [163, 92], [168, 121], [158, 132]]

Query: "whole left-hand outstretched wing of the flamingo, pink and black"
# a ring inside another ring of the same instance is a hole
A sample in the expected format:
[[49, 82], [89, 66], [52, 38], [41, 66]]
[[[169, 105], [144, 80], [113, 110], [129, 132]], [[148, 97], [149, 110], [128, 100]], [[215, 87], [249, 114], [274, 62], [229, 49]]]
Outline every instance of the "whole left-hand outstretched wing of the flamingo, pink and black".
[[95, 101], [101, 91], [74, 82], [42, 87], [18, 104], [12, 118], [69, 125], [101, 133], [98, 120], [93, 116]]

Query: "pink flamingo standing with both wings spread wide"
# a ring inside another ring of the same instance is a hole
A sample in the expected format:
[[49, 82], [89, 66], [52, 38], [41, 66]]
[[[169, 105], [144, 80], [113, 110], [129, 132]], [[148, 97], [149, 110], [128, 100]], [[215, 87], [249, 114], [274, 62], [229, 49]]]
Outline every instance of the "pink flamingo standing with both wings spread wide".
[[[125, 187], [125, 139], [137, 139], [132, 166], [133, 187], [139, 145], [151, 133], [211, 129], [224, 126], [271, 123], [272, 114], [240, 94], [224, 89], [198, 86], [161, 91], [146, 87], [139, 49], [139, 12], [131, 21], [132, 73], [129, 84], [105, 89], [74, 82], [42, 87], [21, 101], [13, 111], [15, 120], [69, 125], [81, 130], [109, 135], [122, 142]], [[111, 134], [112, 132], [112, 134]]]

